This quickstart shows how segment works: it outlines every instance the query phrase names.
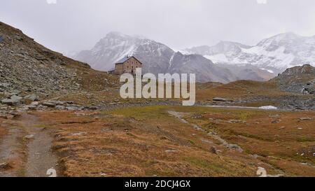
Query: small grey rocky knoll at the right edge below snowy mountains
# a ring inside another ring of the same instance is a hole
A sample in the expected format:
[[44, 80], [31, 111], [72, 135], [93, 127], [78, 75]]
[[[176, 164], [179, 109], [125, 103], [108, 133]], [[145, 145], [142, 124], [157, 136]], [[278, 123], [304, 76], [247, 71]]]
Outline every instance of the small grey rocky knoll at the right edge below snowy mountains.
[[309, 64], [295, 66], [286, 69], [272, 81], [287, 92], [315, 94], [315, 67]]

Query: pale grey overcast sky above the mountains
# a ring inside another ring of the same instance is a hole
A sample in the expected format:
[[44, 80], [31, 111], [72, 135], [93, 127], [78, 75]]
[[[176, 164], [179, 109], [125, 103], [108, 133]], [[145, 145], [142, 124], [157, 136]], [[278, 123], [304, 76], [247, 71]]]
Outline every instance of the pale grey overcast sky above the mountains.
[[[59, 52], [90, 49], [109, 31], [171, 48], [315, 35], [314, 0], [1, 0], [0, 21]], [[258, 3], [267, 1], [267, 3]]]

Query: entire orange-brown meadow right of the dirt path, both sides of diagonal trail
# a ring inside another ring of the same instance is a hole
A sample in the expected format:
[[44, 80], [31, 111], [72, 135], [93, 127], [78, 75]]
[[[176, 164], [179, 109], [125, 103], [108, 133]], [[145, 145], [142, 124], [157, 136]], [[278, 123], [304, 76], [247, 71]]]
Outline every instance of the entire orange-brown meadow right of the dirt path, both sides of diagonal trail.
[[[167, 111], [186, 113], [205, 132]], [[64, 176], [256, 176], [258, 167], [268, 174], [315, 176], [314, 112], [147, 106], [34, 114], [41, 127], [55, 131]], [[244, 152], [225, 148], [207, 132]]]

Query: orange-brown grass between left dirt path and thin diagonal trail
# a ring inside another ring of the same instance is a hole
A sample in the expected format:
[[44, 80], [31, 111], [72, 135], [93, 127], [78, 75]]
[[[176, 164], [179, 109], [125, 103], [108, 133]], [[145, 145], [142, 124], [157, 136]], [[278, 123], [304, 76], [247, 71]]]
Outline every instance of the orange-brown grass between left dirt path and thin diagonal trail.
[[207, 139], [205, 134], [166, 113], [161, 120], [115, 113], [38, 115], [56, 128], [55, 150], [62, 157], [64, 176], [255, 175], [254, 159], [249, 157], [253, 164], [248, 164], [248, 157], [237, 157], [239, 153], [226, 150], [226, 155], [218, 156], [209, 152], [209, 143], [201, 141]]

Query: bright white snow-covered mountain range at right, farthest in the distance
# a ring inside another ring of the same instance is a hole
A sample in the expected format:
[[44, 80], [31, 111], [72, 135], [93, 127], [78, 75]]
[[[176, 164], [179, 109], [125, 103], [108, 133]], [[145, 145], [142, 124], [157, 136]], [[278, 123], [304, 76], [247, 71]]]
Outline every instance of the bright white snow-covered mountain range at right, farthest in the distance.
[[315, 66], [315, 36], [299, 36], [293, 33], [266, 38], [257, 45], [221, 41], [214, 46], [199, 46], [183, 50], [197, 53], [214, 63], [252, 64], [274, 73], [303, 64]]

